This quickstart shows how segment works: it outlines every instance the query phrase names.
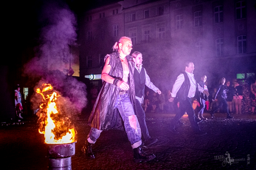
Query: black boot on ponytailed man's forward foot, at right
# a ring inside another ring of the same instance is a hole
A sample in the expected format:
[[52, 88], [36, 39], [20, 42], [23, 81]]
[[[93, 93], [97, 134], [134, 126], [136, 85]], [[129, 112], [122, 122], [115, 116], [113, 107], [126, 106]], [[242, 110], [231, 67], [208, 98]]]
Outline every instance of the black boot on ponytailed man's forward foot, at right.
[[156, 158], [156, 155], [154, 154], [146, 154], [143, 150], [142, 147], [146, 147], [146, 146], [139, 146], [137, 148], [133, 149], [133, 157], [134, 157], [134, 162], [135, 163], [139, 163], [141, 161], [150, 161], [154, 158]]

